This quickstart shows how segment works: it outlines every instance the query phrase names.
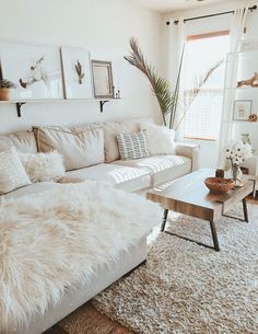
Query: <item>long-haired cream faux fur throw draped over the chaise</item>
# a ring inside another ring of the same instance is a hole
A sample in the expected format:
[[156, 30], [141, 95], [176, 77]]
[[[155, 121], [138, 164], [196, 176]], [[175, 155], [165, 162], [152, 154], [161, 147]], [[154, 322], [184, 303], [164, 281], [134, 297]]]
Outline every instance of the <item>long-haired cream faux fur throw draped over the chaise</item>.
[[66, 289], [86, 284], [96, 266], [149, 233], [160, 214], [143, 197], [90, 181], [2, 201], [0, 333], [27, 325]]

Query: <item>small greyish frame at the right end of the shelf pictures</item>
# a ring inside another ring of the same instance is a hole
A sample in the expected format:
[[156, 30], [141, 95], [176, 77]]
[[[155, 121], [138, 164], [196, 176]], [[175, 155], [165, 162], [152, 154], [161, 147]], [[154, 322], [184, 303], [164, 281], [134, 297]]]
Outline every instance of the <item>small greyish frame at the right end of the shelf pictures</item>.
[[96, 99], [114, 99], [112, 61], [92, 60], [93, 89]]

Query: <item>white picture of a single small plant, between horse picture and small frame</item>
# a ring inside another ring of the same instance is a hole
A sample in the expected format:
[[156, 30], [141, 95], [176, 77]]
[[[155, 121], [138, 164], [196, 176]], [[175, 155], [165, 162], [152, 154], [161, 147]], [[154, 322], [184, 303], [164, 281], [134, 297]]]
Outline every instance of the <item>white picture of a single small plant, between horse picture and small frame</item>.
[[61, 47], [66, 99], [93, 99], [90, 53], [80, 47]]

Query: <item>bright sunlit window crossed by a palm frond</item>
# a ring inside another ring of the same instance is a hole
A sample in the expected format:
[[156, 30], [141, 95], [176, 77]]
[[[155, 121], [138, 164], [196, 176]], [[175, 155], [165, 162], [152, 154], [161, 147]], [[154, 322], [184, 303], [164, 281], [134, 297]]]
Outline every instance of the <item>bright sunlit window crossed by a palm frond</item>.
[[[185, 99], [198, 78], [225, 58], [228, 53], [228, 32], [215, 32], [188, 36]], [[223, 108], [225, 64], [222, 62], [209, 77], [197, 97], [187, 110], [184, 119], [184, 137], [190, 139], [218, 140]]]

